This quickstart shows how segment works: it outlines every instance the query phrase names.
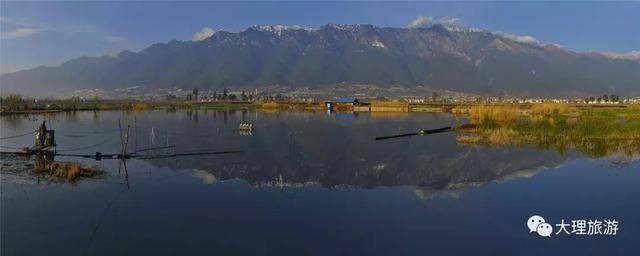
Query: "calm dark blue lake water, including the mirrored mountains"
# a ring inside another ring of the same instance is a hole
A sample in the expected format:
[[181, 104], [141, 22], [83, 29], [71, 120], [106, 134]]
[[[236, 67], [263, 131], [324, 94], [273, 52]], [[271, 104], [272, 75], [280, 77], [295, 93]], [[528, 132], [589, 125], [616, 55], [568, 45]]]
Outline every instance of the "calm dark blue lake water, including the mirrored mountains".
[[[56, 157], [106, 172], [73, 184], [3, 156], [2, 255], [640, 255], [633, 158], [459, 145], [454, 133], [374, 141], [465, 122], [445, 114], [77, 112], [2, 117], [1, 137], [48, 120], [60, 153], [118, 153], [118, 119], [131, 150], [175, 146], [146, 154], [244, 152], [131, 159], [126, 174], [117, 160]], [[619, 230], [541, 237], [527, 228], [536, 214]]]

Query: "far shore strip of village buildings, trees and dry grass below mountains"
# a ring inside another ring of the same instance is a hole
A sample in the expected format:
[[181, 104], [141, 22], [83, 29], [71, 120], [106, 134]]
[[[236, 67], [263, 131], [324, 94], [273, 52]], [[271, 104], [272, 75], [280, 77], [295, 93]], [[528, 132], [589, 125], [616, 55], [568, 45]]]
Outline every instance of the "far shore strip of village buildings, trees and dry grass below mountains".
[[[620, 97], [618, 95], [599, 95], [583, 98], [544, 98], [544, 97], [511, 97], [482, 96], [447, 90], [434, 90], [428, 87], [391, 87], [381, 88], [370, 85], [339, 85], [330, 88], [223, 88], [221, 90], [201, 90], [198, 88], [161, 88], [147, 89], [142, 86], [118, 88], [115, 90], [81, 89], [63, 96], [47, 98], [28, 98], [19, 95], [2, 95], [1, 103], [12, 104], [34, 102], [69, 102], [77, 105], [81, 102], [131, 100], [138, 102], [191, 102], [191, 103], [253, 103], [253, 102], [288, 102], [324, 104], [326, 108], [352, 105], [355, 108], [369, 106], [376, 108], [406, 108], [411, 105], [429, 104], [482, 104], [482, 103], [568, 103], [589, 105], [640, 104], [640, 97]], [[76, 103], [74, 103], [76, 102]], [[392, 104], [395, 102], [395, 104]], [[369, 103], [374, 103], [373, 105]], [[334, 105], [331, 105], [334, 104]], [[362, 109], [364, 110], [364, 109]], [[373, 109], [370, 109], [373, 110]]]

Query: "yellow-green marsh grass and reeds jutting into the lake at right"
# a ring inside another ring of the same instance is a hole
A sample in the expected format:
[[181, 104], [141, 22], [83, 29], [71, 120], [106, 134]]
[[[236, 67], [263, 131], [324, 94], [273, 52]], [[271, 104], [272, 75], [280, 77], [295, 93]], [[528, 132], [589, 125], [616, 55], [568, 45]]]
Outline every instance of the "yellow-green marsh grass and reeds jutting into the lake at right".
[[640, 152], [640, 108], [576, 107], [567, 104], [471, 106], [478, 128], [460, 134], [460, 143], [532, 144], [560, 152], [577, 149], [600, 157]]

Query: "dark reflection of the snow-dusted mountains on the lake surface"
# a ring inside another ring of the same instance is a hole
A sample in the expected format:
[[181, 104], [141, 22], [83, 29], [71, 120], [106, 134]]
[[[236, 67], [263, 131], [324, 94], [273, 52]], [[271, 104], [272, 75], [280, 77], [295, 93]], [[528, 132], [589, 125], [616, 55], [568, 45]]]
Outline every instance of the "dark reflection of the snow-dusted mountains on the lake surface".
[[[109, 143], [88, 149], [88, 153], [117, 152], [119, 119], [132, 126], [131, 148], [175, 146], [145, 152], [148, 154], [244, 150], [223, 157], [141, 160], [175, 171], [197, 170], [194, 176], [205, 183], [242, 179], [256, 186], [412, 186], [420, 191], [455, 191], [490, 181], [530, 177], [567, 160], [585, 157], [566, 149], [560, 153], [534, 146], [459, 144], [454, 132], [373, 140], [381, 135], [467, 122], [448, 114], [356, 113], [344, 118], [326, 113], [247, 110], [114, 111], [9, 116], [3, 117], [3, 123], [8, 130], [19, 131], [45, 118], [54, 121], [62, 151], [106, 139]], [[241, 122], [253, 123], [255, 130], [238, 132]], [[22, 141], [29, 144], [30, 140]]]

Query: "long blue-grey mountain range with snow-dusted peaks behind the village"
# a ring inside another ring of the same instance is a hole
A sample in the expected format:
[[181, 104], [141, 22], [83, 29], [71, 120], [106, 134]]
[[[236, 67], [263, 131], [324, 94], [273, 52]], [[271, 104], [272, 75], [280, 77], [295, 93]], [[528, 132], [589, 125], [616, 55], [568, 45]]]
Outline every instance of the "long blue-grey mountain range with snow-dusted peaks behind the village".
[[253, 26], [4, 74], [4, 91], [367, 84], [514, 96], [640, 96], [640, 58], [436, 24]]

